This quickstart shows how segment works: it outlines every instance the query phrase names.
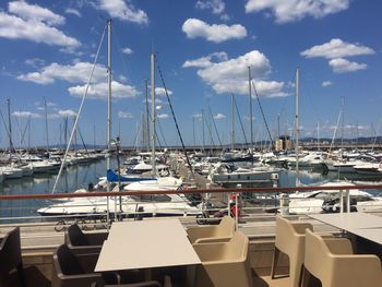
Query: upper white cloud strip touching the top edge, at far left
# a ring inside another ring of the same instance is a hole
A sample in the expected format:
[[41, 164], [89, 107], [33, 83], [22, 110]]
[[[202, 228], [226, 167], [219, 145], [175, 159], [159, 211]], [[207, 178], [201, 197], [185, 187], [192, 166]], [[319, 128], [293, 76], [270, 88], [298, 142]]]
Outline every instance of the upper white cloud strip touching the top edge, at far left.
[[24, 1], [9, 2], [8, 10], [12, 14], [19, 15], [23, 20], [46, 22], [50, 26], [65, 23], [65, 19], [63, 16], [55, 14], [46, 8], [36, 4], [28, 4]]

